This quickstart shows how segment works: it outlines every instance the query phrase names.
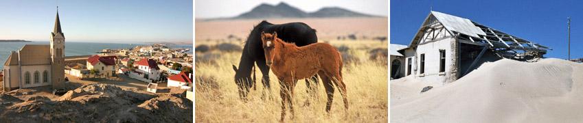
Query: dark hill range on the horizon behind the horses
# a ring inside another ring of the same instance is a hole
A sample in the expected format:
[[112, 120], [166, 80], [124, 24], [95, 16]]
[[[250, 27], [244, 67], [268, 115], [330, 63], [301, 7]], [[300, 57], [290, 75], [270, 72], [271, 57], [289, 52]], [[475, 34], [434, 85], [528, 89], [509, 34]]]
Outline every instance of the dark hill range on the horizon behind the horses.
[[330, 7], [321, 8], [316, 12], [304, 12], [295, 8], [287, 3], [279, 3], [277, 5], [269, 5], [262, 3], [257, 7], [253, 8], [249, 12], [240, 14], [231, 19], [240, 18], [332, 18], [332, 17], [378, 17], [370, 14], [363, 14], [358, 12], [353, 12], [344, 8]]

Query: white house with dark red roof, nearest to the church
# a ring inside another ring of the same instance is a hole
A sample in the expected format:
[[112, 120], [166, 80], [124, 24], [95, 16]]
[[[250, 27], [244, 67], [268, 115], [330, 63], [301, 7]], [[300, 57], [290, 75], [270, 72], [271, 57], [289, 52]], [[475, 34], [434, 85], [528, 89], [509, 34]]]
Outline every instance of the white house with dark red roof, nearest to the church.
[[87, 70], [97, 70], [106, 77], [115, 76], [115, 56], [93, 55], [87, 59]]

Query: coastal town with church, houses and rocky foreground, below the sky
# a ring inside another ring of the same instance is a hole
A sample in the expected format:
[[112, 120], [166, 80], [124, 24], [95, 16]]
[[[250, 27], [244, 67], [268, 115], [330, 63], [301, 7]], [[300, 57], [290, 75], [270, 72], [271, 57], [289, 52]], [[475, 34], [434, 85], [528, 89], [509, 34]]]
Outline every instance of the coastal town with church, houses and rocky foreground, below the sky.
[[1, 121], [192, 122], [192, 46], [139, 44], [65, 56], [63, 30], [57, 11], [49, 44], [7, 51]]

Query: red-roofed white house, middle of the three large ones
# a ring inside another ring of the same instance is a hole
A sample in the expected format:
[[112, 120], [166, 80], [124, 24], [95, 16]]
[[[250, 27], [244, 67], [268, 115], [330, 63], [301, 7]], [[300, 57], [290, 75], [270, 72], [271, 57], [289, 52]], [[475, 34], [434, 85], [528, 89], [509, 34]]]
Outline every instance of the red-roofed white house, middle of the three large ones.
[[158, 68], [158, 64], [153, 59], [141, 59], [135, 62], [137, 69], [135, 72], [141, 73], [140, 77], [149, 79], [151, 81], [159, 81], [162, 70]]

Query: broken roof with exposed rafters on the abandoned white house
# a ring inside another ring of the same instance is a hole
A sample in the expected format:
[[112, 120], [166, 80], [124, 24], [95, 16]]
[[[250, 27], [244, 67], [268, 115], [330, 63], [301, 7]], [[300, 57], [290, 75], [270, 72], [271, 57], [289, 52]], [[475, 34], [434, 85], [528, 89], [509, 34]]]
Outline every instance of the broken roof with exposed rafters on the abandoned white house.
[[[455, 37], [459, 42], [489, 46], [490, 49], [495, 50], [533, 52], [538, 53], [540, 56], [547, 53], [547, 50], [552, 50], [547, 46], [512, 36], [503, 31], [476, 23], [468, 18], [435, 11], [431, 11], [426, 17], [409, 47], [420, 44], [420, 41], [426, 38], [424, 37], [426, 32], [439, 29], [445, 29], [446, 35], [444, 36]], [[434, 33], [433, 35], [437, 34]], [[435, 38], [433, 39], [435, 40]]]

